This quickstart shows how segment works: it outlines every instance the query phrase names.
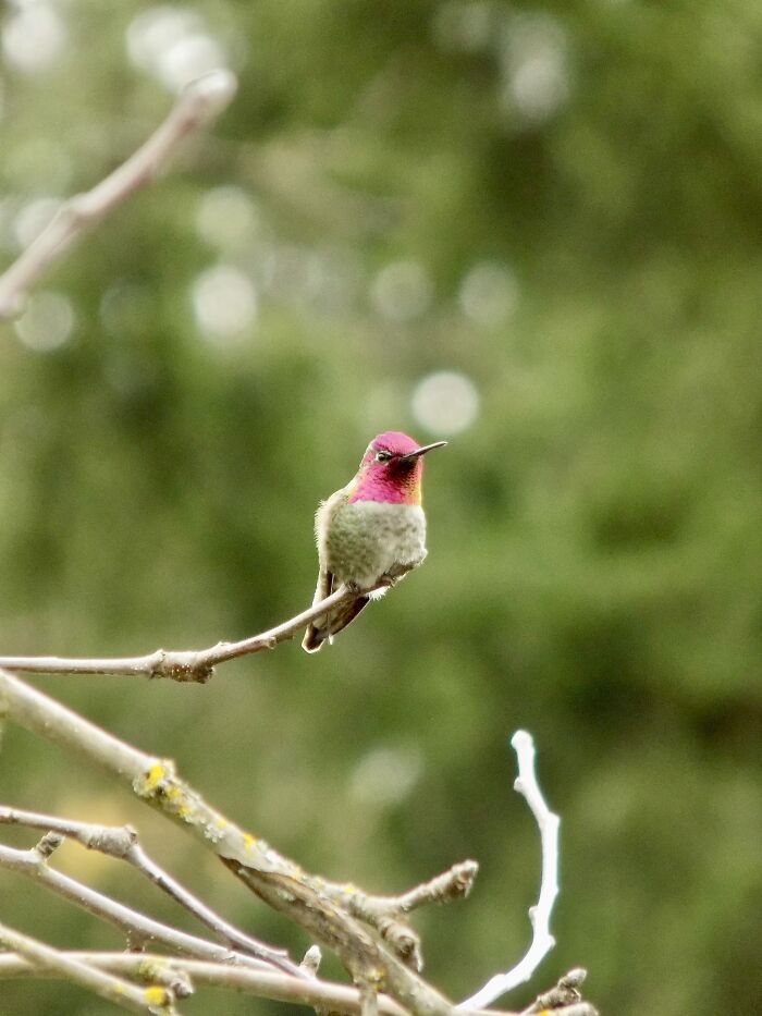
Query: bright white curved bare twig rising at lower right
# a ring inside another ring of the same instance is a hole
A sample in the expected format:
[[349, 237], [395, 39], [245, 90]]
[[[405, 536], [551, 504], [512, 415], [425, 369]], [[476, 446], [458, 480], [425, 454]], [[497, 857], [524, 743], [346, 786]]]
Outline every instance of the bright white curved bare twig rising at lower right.
[[549, 810], [534, 774], [534, 743], [531, 734], [516, 731], [511, 739], [518, 759], [518, 776], [514, 789], [521, 794], [531, 808], [540, 830], [542, 845], [542, 878], [537, 906], [529, 910], [532, 942], [524, 958], [505, 974], [491, 978], [476, 994], [466, 999], [458, 1008], [481, 1008], [517, 984], [528, 981], [546, 953], [555, 945], [550, 932], [551, 911], [558, 895], [558, 827], [561, 819]]

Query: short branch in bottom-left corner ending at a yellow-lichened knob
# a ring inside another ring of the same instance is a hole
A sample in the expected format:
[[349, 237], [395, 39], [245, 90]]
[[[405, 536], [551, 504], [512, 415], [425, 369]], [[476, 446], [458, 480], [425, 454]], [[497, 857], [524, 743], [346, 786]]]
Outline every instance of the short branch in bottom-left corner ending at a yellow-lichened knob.
[[105, 970], [90, 966], [86, 960], [61, 953], [50, 945], [32, 939], [0, 925], [0, 944], [23, 956], [35, 970], [41, 970], [57, 977], [65, 978], [88, 991], [93, 991], [102, 999], [108, 999], [131, 1013], [161, 1014], [174, 1013], [172, 995], [165, 988], [155, 986], [147, 989], [135, 988], [128, 981], [114, 977]]

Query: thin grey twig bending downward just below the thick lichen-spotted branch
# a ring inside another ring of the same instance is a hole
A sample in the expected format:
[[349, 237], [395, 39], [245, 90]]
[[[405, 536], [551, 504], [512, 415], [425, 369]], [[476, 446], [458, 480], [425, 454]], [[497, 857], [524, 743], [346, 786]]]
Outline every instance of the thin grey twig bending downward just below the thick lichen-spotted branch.
[[[109, 857], [125, 860], [149, 879], [155, 885], [176, 901], [182, 907], [206, 925], [226, 945], [272, 964], [288, 974], [298, 974], [299, 968], [292, 963], [284, 951], [258, 942], [250, 935], [228, 923], [222, 917], [188, 892], [163, 868], [156, 864], [137, 842], [137, 833], [130, 825], [95, 825], [89, 822], [75, 822], [57, 816], [38, 815], [19, 808], [0, 806], [0, 825], [25, 825], [28, 829], [47, 829], [60, 833], [70, 840], [76, 840], [88, 849], [98, 850]], [[39, 849], [39, 847], [37, 848]]]

